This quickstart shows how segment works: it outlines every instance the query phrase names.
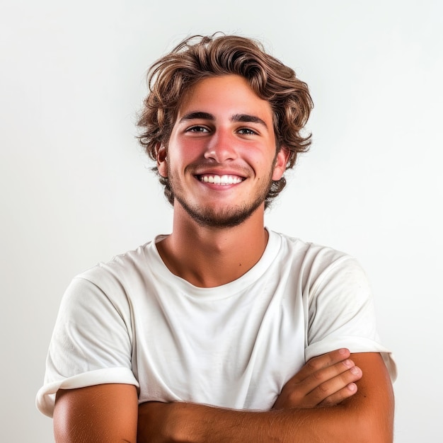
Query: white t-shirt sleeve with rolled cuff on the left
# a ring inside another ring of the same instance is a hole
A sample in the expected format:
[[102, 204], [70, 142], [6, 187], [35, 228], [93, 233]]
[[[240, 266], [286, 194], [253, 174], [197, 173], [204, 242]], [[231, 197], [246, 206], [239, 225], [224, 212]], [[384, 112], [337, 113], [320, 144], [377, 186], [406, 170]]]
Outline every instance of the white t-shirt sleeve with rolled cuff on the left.
[[84, 277], [71, 282], [60, 304], [36, 404], [52, 416], [58, 389], [120, 383], [139, 387], [132, 372], [130, 304], [121, 287], [112, 297]]

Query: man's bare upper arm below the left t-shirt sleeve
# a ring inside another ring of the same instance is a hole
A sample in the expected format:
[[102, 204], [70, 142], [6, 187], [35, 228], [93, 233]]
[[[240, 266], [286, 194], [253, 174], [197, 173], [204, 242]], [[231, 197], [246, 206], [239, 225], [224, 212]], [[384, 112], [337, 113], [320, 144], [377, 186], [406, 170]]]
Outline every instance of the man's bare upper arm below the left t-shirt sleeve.
[[136, 442], [137, 389], [99, 384], [59, 390], [54, 408], [55, 442]]

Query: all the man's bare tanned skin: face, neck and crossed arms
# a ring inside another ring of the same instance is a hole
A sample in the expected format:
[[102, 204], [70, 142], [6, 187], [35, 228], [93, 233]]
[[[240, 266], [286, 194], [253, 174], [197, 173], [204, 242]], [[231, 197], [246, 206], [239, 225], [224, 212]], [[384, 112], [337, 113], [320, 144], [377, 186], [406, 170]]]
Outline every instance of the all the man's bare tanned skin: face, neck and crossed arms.
[[[269, 103], [244, 79], [200, 81], [183, 99], [168, 145], [159, 146], [159, 173], [176, 195], [173, 232], [157, 245], [171, 272], [215, 287], [251, 269], [267, 243], [265, 190], [286, 162], [286, 149], [276, 151]], [[202, 181], [209, 176], [232, 183]], [[379, 354], [335, 350], [294, 374], [270, 411], [137, 406], [134, 386], [121, 384], [59, 391], [54, 435], [76, 443], [384, 443], [393, 439], [393, 393]]]

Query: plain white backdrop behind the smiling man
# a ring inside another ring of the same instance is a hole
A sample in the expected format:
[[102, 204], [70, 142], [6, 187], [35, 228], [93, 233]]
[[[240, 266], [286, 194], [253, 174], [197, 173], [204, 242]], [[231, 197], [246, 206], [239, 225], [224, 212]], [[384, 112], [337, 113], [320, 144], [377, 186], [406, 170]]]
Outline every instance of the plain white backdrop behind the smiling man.
[[45, 356], [74, 275], [171, 230], [137, 144], [151, 62], [191, 34], [263, 42], [306, 81], [313, 145], [266, 224], [355, 255], [398, 363], [396, 442], [438, 442], [439, 0], [2, 1], [1, 442], [52, 442]]

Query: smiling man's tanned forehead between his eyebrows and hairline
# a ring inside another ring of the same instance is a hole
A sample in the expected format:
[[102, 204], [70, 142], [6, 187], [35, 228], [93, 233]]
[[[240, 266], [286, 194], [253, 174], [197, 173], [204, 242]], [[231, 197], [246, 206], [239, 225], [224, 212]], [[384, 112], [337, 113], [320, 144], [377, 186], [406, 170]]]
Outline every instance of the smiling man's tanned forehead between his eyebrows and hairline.
[[178, 119], [190, 111], [217, 113], [259, 113], [272, 120], [272, 108], [267, 100], [260, 98], [248, 81], [235, 74], [210, 76], [187, 91], [178, 109]]

